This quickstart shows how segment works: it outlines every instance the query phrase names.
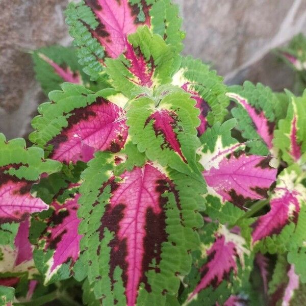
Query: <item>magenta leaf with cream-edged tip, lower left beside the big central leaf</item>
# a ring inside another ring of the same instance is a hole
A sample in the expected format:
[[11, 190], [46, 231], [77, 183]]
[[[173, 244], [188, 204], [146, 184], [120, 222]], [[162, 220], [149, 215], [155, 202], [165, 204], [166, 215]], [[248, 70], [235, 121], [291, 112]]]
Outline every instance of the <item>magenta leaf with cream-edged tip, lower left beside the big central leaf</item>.
[[45, 283], [65, 279], [70, 276], [71, 267], [79, 259], [80, 240], [78, 233], [81, 220], [77, 216], [79, 208], [79, 184], [70, 183], [60, 190], [50, 203], [49, 217], [36, 217], [44, 224], [34, 252], [35, 263], [45, 277]]

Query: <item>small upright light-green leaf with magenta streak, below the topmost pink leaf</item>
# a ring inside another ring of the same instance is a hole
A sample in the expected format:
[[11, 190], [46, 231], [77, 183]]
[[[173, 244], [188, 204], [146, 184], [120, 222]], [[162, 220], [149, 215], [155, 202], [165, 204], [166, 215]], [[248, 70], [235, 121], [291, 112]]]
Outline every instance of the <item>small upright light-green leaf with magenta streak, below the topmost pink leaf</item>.
[[161, 36], [144, 27], [129, 36], [122, 55], [106, 60], [106, 72], [116, 90], [134, 98], [141, 87], [155, 88], [170, 83], [178, 59]]

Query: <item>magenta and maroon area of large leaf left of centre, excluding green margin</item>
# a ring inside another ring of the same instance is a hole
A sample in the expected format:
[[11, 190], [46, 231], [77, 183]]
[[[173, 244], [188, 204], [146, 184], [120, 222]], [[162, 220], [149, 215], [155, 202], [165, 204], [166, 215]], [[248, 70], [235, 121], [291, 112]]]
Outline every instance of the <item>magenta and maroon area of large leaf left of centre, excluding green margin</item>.
[[98, 97], [90, 106], [71, 112], [68, 126], [49, 141], [54, 146], [50, 157], [65, 163], [88, 162], [97, 150], [118, 152], [126, 137], [125, 111]]

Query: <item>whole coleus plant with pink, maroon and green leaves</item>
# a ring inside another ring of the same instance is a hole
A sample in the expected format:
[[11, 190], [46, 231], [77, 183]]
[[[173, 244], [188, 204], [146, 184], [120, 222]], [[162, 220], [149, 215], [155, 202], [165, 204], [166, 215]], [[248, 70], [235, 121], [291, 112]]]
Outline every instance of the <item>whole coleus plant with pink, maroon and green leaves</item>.
[[33, 146], [0, 136], [1, 303], [289, 305], [306, 282], [306, 93], [227, 87], [181, 56], [170, 0], [66, 15], [75, 48], [33, 54], [53, 90]]

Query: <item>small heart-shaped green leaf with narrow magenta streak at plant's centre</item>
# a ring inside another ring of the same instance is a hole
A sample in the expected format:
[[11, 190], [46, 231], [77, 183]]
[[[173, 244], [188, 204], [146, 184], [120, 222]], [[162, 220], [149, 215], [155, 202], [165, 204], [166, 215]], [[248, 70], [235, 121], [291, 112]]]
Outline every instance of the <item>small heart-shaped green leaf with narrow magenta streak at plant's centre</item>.
[[195, 101], [183, 91], [171, 92], [156, 103], [154, 97], [141, 96], [127, 110], [129, 134], [149, 160], [184, 172], [197, 172], [195, 149], [199, 146], [199, 124]]

